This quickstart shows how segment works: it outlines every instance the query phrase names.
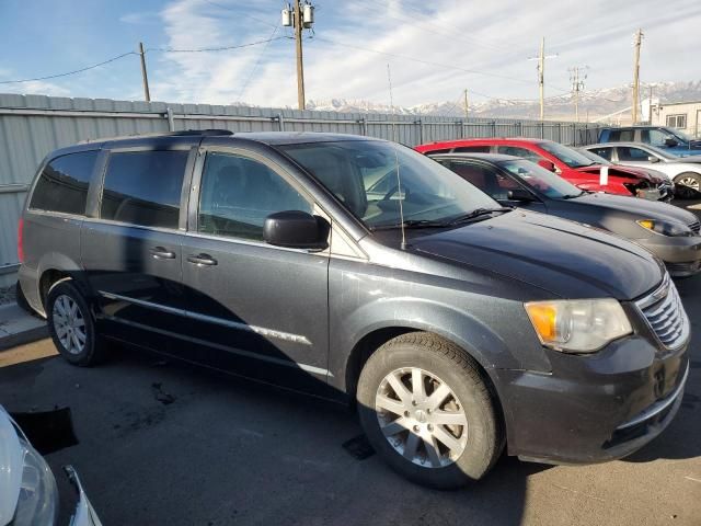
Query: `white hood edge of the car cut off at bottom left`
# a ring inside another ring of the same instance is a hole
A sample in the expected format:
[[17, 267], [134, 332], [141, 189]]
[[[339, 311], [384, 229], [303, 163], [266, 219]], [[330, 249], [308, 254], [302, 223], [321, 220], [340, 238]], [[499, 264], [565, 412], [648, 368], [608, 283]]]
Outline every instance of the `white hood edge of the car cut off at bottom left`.
[[12, 419], [0, 405], [0, 526], [10, 524], [20, 498], [24, 448]]

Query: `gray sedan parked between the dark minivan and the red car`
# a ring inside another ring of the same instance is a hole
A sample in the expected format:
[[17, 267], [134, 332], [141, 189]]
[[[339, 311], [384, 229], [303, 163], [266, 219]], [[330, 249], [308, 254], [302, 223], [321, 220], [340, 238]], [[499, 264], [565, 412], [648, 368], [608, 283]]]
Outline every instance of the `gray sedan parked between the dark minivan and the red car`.
[[504, 206], [608, 230], [645, 247], [683, 277], [701, 271], [701, 222], [692, 213], [644, 199], [579, 190], [538, 164], [494, 153], [430, 156]]

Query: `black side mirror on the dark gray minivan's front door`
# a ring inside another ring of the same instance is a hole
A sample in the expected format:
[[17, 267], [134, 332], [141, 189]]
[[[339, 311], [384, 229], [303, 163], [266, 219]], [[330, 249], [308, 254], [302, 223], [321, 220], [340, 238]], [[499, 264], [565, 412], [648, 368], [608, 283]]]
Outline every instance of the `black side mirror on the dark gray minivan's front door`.
[[306, 211], [277, 211], [265, 218], [263, 239], [275, 247], [324, 250], [330, 228], [325, 219]]

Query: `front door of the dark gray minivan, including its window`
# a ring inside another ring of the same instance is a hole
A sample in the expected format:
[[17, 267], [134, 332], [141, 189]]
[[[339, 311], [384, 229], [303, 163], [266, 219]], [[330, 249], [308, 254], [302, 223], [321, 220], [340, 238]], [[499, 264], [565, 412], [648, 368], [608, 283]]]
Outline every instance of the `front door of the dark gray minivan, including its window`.
[[313, 209], [298, 183], [265, 158], [245, 149], [203, 150], [183, 241], [192, 335], [207, 347], [197, 351], [198, 361], [325, 389], [329, 254], [263, 240], [269, 214]]

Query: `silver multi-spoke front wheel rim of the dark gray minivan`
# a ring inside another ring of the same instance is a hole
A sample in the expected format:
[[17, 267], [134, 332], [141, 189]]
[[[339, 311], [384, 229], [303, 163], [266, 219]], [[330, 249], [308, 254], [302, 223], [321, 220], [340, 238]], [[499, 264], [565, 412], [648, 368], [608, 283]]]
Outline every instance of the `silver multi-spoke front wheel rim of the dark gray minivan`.
[[406, 460], [443, 468], [464, 451], [464, 407], [436, 375], [418, 367], [395, 369], [380, 382], [375, 405], [382, 434]]

